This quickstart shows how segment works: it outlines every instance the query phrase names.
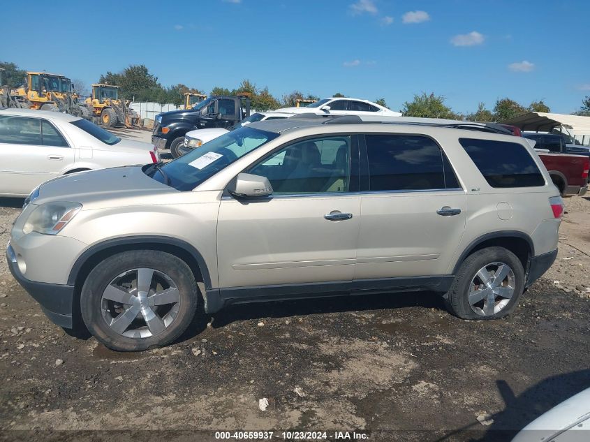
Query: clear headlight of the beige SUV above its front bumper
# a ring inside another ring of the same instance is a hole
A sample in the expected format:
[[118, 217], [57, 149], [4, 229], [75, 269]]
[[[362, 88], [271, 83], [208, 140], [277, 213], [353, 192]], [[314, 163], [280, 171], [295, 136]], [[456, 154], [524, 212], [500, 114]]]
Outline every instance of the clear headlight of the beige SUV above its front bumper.
[[22, 227], [22, 233], [57, 235], [82, 209], [78, 202], [46, 202], [36, 207]]

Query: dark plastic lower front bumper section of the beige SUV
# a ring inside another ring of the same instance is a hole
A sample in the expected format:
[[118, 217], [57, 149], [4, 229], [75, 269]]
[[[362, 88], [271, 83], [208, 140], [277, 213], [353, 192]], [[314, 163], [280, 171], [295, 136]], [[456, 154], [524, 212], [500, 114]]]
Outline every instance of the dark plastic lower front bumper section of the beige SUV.
[[43, 309], [43, 313], [60, 327], [72, 328], [74, 286], [31, 281], [20, 272], [12, 246], [8, 245], [6, 259], [10, 273]]

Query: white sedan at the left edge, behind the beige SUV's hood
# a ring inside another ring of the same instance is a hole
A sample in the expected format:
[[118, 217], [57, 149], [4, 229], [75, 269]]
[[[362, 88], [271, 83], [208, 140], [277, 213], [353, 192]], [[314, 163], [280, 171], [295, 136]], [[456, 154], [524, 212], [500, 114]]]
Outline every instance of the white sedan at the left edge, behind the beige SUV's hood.
[[73, 115], [0, 109], [0, 196], [27, 196], [59, 175], [159, 159], [153, 145], [123, 140]]

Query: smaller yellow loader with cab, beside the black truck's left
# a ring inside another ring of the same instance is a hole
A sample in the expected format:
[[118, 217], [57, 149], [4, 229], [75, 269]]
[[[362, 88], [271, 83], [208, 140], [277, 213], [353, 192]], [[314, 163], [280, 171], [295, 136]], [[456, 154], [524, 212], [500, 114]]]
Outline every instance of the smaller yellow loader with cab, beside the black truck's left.
[[92, 96], [86, 99], [86, 103], [103, 126], [123, 124], [133, 127], [139, 124], [140, 116], [129, 107], [129, 101], [119, 98], [119, 86], [92, 84]]

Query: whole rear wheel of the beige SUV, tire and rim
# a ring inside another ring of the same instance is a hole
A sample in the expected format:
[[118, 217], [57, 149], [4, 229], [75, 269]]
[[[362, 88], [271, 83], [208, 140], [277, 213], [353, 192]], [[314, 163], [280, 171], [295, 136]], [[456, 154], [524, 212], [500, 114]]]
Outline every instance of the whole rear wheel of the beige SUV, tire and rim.
[[503, 247], [487, 247], [464, 260], [445, 302], [459, 318], [503, 318], [515, 309], [524, 278], [522, 263], [514, 253]]

